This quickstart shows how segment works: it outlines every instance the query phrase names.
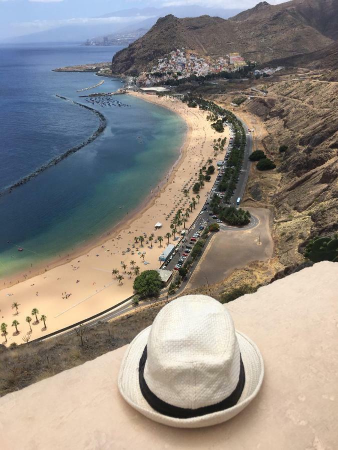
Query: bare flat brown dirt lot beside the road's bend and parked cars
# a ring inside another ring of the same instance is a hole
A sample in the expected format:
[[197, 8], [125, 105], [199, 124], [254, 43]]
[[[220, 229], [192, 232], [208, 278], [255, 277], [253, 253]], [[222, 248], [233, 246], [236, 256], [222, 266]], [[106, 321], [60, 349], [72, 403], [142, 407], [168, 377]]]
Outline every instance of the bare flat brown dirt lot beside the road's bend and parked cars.
[[249, 230], [217, 232], [190, 278], [187, 289], [205, 285], [207, 282], [217, 283], [236, 268], [256, 260], [265, 261], [272, 256], [270, 210], [248, 209], [259, 219], [257, 226]]

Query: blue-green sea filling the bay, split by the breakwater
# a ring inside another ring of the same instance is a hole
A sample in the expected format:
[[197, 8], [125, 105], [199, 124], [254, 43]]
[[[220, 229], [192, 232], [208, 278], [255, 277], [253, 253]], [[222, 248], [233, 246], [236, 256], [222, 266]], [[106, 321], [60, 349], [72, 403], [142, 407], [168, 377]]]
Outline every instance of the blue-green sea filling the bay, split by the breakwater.
[[[92, 106], [79, 95], [122, 86], [94, 73], [51, 70], [110, 61], [120, 48], [0, 47], [0, 190], [97, 129], [97, 115], [55, 94]], [[103, 85], [76, 92], [101, 79]], [[186, 131], [179, 116], [131, 96], [113, 98], [129, 106], [93, 106], [107, 119], [97, 139], [0, 196], [0, 277], [33, 272], [128, 218], [178, 158]]]

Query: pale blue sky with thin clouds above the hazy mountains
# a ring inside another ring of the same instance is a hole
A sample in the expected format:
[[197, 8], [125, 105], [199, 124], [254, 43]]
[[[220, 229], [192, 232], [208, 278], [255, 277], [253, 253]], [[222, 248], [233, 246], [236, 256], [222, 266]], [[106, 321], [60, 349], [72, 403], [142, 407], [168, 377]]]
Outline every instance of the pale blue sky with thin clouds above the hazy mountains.
[[[286, 0], [269, 0], [269, 3], [277, 4], [283, 1]], [[97, 17], [133, 7], [198, 4], [208, 7], [247, 9], [257, 2], [258, 0], [0, 0], [0, 40], [65, 24], [91, 24], [92, 22], [123, 24], [127, 20], [123, 16]], [[137, 22], [142, 18], [135, 16], [132, 20]]]

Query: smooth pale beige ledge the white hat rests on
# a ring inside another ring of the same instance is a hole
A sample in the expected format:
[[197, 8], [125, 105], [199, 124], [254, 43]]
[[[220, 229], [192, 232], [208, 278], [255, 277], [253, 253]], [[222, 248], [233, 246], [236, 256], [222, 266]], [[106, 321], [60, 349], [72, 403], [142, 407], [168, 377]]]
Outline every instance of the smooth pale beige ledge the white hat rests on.
[[229, 448], [337, 445], [338, 264], [320, 262], [229, 303], [262, 352], [257, 398], [228, 422], [176, 429], [132, 409], [117, 375], [125, 347], [0, 398], [4, 449]]

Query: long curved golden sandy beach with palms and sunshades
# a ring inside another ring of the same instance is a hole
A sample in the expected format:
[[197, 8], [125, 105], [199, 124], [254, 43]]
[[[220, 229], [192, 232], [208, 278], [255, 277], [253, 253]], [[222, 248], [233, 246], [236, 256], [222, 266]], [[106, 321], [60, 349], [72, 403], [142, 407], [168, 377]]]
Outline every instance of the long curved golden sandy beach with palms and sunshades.
[[[26, 317], [31, 315], [33, 308], [38, 308], [38, 318], [41, 314], [47, 316], [47, 329], [42, 321], [36, 323], [35, 317], [32, 317], [32, 340], [85, 319], [132, 295], [135, 276], [128, 274], [132, 270], [130, 262], [135, 261], [140, 271], [160, 267], [159, 255], [168, 243], [165, 234], [171, 231], [170, 223], [177, 210], [181, 208], [185, 211], [191, 198], [196, 198], [191, 188], [197, 181], [199, 168], [206, 165], [209, 157], [213, 159], [213, 139], [226, 136], [228, 140], [228, 129], [225, 128], [223, 133], [214, 131], [206, 120], [205, 111], [188, 108], [179, 100], [137, 93], [133, 95], [168, 107], [184, 118], [188, 132], [181, 157], [156, 190], [150, 193], [142, 209], [129, 214], [123, 223], [109, 232], [109, 236], [105, 235], [104, 241], [102, 237], [98, 238], [95, 246], [92, 244], [91, 249], [87, 246], [79, 256], [59, 261], [59, 265], [40, 275], [27, 277], [0, 290], [0, 323], [8, 324], [8, 344], [23, 343], [22, 338], [30, 331]], [[216, 176], [217, 171], [199, 192], [199, 204], [192, 210], [187, 227], [199, 213]], [[188, 196], [184, 195], [184, 188], [189, 189]], [[158, 230], [155, 229], [156, 222], [163, 224]], [[147, 239], [143, 247], [140, 242], [135, 243], [135, 236], [149, 236], [151, 233], [155, 234], [152, 246]], [[162, 246], [157, 236], [163, 237]], [[178, 240], [172, 236], [170, 243], [176, 244]], [[143, 252], [144, 261], [141, 256]], [[121, 266], [122, 261], [127, 264], [126, 269]], [[112, 275], [114, 268], [124, 276], [122, 283]], [[14, 302], [19, 304], [18, 314], [12, 308]], [[15, 319], [19, 321], [18, 335], [15, 327], [11, 326]], [[5, 343], [3, 335], [0, 336], [0, 343]]]

